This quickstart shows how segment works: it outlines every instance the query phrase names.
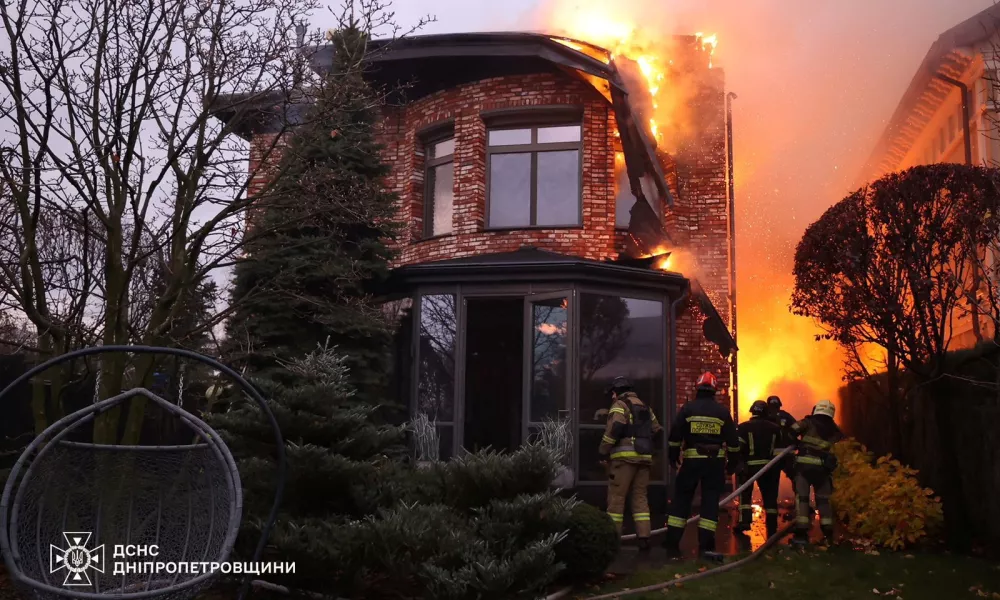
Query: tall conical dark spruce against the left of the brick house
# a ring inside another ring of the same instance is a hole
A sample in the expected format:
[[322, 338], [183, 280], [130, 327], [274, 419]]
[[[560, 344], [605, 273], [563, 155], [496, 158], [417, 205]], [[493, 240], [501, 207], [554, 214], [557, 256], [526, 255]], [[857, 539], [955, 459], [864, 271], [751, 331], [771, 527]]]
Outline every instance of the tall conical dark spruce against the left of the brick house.
[[333, 69], [261, 199], [255, 239], [235, 267], [239, 308], [227, 355], [280, 382], [281, 361], [329, 340], [346, 356], [359, 399], [375, 401], [391, 333], [369, 293], [388, 273], [398, 226], [375, 138], [379, 98], [364, 78], [365, 42], [354, 26], [333, 36]]

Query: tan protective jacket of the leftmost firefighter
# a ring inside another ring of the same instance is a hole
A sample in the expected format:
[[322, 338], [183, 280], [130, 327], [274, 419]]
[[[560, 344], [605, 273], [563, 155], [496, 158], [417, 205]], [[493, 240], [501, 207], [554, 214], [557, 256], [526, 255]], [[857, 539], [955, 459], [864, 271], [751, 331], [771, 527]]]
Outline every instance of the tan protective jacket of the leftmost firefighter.
[[634, 392], [624, 392], [608, 411], [608, 424], [598, 452], [611, 460], [653, 462], [653, 449], [663, 433], [653, 411]]

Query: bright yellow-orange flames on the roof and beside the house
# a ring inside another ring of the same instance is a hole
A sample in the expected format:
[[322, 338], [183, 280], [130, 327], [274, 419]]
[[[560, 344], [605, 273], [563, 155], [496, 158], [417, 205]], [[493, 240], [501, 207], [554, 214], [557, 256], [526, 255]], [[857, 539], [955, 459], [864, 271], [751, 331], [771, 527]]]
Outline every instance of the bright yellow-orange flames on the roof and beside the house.
[[[645, 79], [652, 98], [653, 113], [649, 130], [657, 145], [668, 149], [677, 132], [690, 125], [689, 90], [684, 83], [671, 77], [672, 57], [676, 38], [673, 34], [687, 32], [664, 31], [644, 18], [620, 10], [615, 3], [603, 0], [550, 0], [545, 10], [545, 29], [564, 36], [562, 43], [587, 55], [610, 62], [616, 57], [635, 61]], [[631, 11], [635, 13], [635, 11]], [[712, 68], [719, 38], [715, 34], [694, 34]], [[568, 39], [567, 39], [568, 38]], [[591, 46], [607, 49], [601, 53]], [[749, 155], [740, 156], [737, 176], [748, 177], [753, 164]], [[616, 160], [622, 157], [616, 156]], [[739, 182], [737, 182], [739, 183]], [[669, 254], [668, 254], [669, 253]], [[656, 268], [698, 276], [696, 257], [677, 248], [656, 248], [647, 255], [662, 256]], [[788, 310], [790, 275], [775, 274], [766, 281], [753, 281], [749, 288], [739, 290], [739, 353], [738, 394], [740, 419], [749, 418], [754, 400], [769, 395], [782, 398], [784, 407], [800, 418], [811, 411], [816, 401], [837, 401], [836, 392], [842, 385], [842, 354], [833, 342], [815, 341], [816, 326], [809, 320], [795, 317]], [[745, 275], [744, 275], [745, 277]]]

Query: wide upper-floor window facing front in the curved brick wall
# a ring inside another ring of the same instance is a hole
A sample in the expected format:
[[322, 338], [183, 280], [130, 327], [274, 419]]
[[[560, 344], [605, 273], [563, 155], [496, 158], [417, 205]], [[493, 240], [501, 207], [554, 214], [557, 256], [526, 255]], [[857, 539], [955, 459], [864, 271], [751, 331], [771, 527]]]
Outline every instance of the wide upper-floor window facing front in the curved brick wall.
[[579, 124], [489, 130], [490, 228], [581, 223]]

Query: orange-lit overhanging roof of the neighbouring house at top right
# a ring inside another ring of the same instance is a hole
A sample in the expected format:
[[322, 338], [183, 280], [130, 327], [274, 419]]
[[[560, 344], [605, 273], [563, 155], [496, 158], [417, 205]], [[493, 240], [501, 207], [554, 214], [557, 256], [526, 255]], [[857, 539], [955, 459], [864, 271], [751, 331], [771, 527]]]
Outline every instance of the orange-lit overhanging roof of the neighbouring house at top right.
[[931, 45], [865, 163], [858, 185], [896, 170], [941, 103], [955, 91], [940, 76], [960, 79], [975, 60], [974, 47], [992, 36], [998, 24], [1000, 4], [945, 31]]

